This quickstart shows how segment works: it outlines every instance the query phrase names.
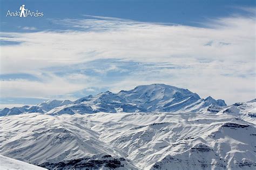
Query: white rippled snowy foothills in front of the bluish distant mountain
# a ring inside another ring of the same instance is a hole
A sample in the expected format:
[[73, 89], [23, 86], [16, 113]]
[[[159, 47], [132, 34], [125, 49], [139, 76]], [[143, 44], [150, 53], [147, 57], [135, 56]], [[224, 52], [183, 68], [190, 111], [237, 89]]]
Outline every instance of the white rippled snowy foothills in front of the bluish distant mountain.
[[26, 113], [0, 124], [2, 155], [49, 169], [256, 168], [256, 121], [232, 114]]

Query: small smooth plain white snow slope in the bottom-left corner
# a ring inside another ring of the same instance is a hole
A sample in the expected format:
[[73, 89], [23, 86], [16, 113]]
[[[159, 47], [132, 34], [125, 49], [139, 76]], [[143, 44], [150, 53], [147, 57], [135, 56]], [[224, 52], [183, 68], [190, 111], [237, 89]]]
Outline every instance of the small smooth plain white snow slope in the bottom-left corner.
[[38, 167], [35, 165], [28, 164], [23, 161], [19, 161], [16, 159], [11, 159], [8, 157], [4, 157], [0, 155], [0, 169], [1, 170], [12, 170], [12, 169], [20, 169], [20, 170], [43, 170], [45, 168]]

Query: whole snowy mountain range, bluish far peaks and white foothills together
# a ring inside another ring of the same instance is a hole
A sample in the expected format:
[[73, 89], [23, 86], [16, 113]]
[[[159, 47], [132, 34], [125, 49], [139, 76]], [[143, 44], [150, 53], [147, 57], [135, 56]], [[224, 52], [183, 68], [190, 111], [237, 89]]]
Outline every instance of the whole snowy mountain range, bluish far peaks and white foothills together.
[[1, 115], [0, 154], [48, 169], [256, 169], [256, 99], [152, 84]]

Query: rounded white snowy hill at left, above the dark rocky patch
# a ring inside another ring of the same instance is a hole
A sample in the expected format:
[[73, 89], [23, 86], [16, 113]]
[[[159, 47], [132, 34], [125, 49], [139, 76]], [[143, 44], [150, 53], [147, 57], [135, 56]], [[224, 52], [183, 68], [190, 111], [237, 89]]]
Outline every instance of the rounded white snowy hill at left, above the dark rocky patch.
[[133, 167], [122, 159], [126, 154], [119, 148], [99, 140], [98, 132], [80, 125], [90, 124], [90, 120], [68, 121], [38, 113], [3, 118], [0, 121], [0, 153], [3, 155], [49, 166], [64, 160], [83, 158], [83, 161], [90, 161], [92, 157], [95, 160], [106, 157], [108, 160], [121, 159], [128, 169]]

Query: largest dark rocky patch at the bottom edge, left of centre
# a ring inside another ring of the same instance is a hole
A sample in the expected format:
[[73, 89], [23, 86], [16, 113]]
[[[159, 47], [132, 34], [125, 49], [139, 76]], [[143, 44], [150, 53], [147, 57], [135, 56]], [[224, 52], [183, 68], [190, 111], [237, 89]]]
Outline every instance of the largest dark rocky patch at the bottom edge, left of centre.
[[48, 169], [99, 169], [105, 167], [108, 169], [116, 169], [124, 167], [124, 158], [112, 158], [111, 155], [103, 155], [99, 160], [93, 160], [92, 158], [81, 158], [68, 161], [61, 161], [58, 163], [45, 162], [38, 165]]

